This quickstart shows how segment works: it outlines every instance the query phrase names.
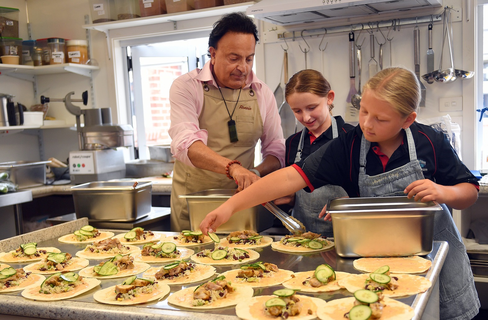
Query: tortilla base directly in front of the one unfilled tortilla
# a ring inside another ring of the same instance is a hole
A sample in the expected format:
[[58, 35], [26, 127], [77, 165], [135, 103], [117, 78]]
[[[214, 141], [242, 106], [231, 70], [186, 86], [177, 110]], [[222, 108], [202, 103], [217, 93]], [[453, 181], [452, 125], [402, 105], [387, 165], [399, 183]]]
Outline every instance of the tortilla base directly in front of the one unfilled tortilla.
[[[354, 293], [356, 290], [365, 288], [366, 278], [370, 274], [363, 273], [359, 275], [353, 275], [339, 280], [339, 285], [346, 288], [350, 293]], [[426, 292], [432, 285], [429, 279], [421, 276], [414, 276], [409, 274], [390, 274], [390, 277], [397, 277], [398, 288], [395, 290], [383, 290], [385, 297], [404, 297], [416, 295], [421, 292]]]

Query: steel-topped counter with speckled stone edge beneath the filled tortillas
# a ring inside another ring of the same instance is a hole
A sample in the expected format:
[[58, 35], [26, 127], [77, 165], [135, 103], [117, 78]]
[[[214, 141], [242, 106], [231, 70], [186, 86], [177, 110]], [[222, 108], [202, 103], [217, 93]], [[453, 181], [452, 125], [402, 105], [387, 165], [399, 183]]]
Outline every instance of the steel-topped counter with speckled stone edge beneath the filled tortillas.
[[[19, 235], [9, 239], [0, 241], [0, 252], [5, 252], [17, 248], [21, 243], [36, 241], [40, 246], [56, 246], [61, 251], [68, 251], [74, 254], [76, 251], [83, 248], [84, 244], [62, 244], [57, 241], [57, 237], [72, 233], [78, 230], [81, 226], [86, 225], [88, 220], [86, 218], [75, 221], [63, 223], [57, 226], [49, 227], [25, 235]], [[123, 232], [117, 230], [114, 232]], [[166, 233], [174, 234], [174, 233]], [[278, 239], [278, 238], [276, 238]], [[212, 247], [212, 244], [207, 244], [200, 247], [192, 247], [195, 252], [201, 251], [203, 248]], [[427, 259], [432, 260], [432, 267], [429, 269], [425, 277], [432, 282], [432, 287], [425, 293], [399, 299], [400, 301], [411, 305], [415, 310], [415, 317], [413, 319], [435, 319], [439, 317], [438, 294], [439, 286], [437, 278], [447, 255], [448, 245], [445, 241], [434, 241], [434, 249], [431, 254], [426, 256]], [[295, 272], [306, 271], [313, 269], [313, 267], [320, 263], [331, 264], [338, 271], [345, 271], [349, 273], [360, 273], [352, 266], [353, 259], [340, 258], [335, 254], [335, 251], [327, 250], [317, 254], [287, 254], [273, 250], [270, 246], [257, 249], [261, 252], [261, 258], [269, 262], [276, 263], [282, 269], [289, 269]], [[98, 264], [99, 260], [90, 260], [90, 265]], [[15, 268], [21, 265], [12, 264]], [[152, 264], [152, 266], [161, 266], [162, 264]], [[223, 272], [232, 267], [216, 266], [217, 272]], [[234, 266], [235, 268], [235, 266]], [[424, 276], [424, 275], [423, 275]], [[102, 279], [101, 287], [108, 286], [121, 282], [121, 279]], [[204, 282], [204, 281], [203, 281]], [[198, 285], [196, 282], [192, 285]], [[185, 285], [183, 287], [188, 287]], [[282, 286], [266, 287], [255, 289], [255, 295], [270, 295], [272, 292]], [[93, 292], [99, 290], [97, 287], [88, 291], [81, 296], [74, 297], [68, 300], [60, 301], [35, 301], [25, 299], [20, 295], [20, 292], [6, 293], [1, 295], [2, 303], [0, 303], [0, 314], [17, 315], [24, 317], [37, 317], [49, 319], [63, 319], [63, 320], [176, 320], [176, 319], [201, 319], [201, 320], [237, 320], [235, 316], [235, 308], [220, 308], [214, 310], [207, 310], [204, 312], [182, 310], [167, 304], [167, 297], [158, 301], [142, 304], [138, 306], [117, 306], [107, 305], [95, 302], [92, 298]], [[171, 286], [171, 293], [182, 289], [181, 285]], [[170, 294], [171, 294], [170, 293]], [[325, 300], [343, 298], [345, 295], [350, 295], [343, 291], [332, 293], [311, 294]], [[88, 311], [89, 310], [89, 311]]]

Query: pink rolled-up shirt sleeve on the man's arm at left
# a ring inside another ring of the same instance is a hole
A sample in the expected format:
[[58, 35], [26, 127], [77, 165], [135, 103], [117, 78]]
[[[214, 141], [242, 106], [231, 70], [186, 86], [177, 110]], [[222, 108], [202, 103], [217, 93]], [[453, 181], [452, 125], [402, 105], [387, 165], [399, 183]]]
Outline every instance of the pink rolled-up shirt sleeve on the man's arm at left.
[[[203, 93], [202, 93], [203, 96]], [[171, 153], [184, 164], [195, 167], [188, 158], [188, 148], [197, 140], [207, 144], [207, 130], [199, 128], [198, 117], [202, 110], [203, 97], [198, 97], [194, 82], [176, 79], [169, 89], [171, 106], [171, 125], [168, 133], [171, 137]]]

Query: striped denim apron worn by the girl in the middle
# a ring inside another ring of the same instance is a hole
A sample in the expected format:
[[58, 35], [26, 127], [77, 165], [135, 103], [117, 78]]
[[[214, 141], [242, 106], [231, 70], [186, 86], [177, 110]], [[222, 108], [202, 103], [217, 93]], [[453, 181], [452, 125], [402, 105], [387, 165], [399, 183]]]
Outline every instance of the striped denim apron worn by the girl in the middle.
[[[332, 138], [337, 138], [339, 131], [337, 129], [336, 120], [334, 117], [330, 117], [330, 119], [332, 122]], [[298, 144], [295, 162], [300, 161], [302, 158], [304, 136], [305, 128], [303, 128], [302, 135], [300, 136], [300, 143]], [[291, 215], [302, 221], [307, 231], [322, 234], [327, 237], [333, 237], [332, 222], [319, 219], [319, 213], [330, 199], [346, 196], [347, 193], [344, 189], [333, 185], [320, 187], [313, 192], [305, 192], [303, 189], [299, 190], [295, 192], [295, 206], [293, 207]]]

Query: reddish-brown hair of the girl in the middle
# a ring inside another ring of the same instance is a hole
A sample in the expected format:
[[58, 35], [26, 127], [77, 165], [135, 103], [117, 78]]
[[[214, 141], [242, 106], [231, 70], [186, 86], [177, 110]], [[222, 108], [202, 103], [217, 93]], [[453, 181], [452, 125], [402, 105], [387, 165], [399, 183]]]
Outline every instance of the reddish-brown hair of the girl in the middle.
[[[285, 99], [295, 92], [310, 92], [320, 97], [326, 97], [330, 91], [330, 84], [322, 73], [313, 69], [305, 69], [295, 73], [285, 85]], [[328, 105], [329, 112], [334, 104]]]

